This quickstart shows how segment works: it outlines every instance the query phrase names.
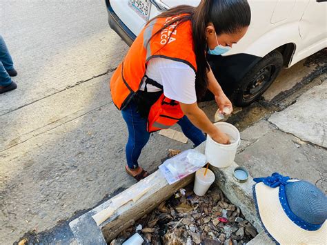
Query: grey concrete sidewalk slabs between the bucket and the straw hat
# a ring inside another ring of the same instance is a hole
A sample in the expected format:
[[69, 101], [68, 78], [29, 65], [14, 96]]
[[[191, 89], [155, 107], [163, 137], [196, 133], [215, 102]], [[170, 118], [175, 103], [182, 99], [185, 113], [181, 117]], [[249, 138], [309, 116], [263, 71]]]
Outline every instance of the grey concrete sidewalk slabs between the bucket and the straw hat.
[[275, 112], [241, 133], [235, 161], [252, 177], [274, 172], [305, 179], [327, 190], [327, 79], [305, 92], [295, 104]]

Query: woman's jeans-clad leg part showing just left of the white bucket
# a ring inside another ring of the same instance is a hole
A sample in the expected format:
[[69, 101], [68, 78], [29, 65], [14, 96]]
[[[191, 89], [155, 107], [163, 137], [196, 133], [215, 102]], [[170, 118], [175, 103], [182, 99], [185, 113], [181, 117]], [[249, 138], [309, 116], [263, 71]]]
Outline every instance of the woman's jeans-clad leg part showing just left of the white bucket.
[[186, 135], [186, 137], [188, 137], [188, 139], [190, 139], [195, 146], [199, 146], [199, 144], [206, 140], [204, 133], [202, 133], [199, 128], [194, 126], [188, 117], [184, 116], [177, 122], [177, 124], [181, 126], [181, 130], [183, 131], [184, 135]]

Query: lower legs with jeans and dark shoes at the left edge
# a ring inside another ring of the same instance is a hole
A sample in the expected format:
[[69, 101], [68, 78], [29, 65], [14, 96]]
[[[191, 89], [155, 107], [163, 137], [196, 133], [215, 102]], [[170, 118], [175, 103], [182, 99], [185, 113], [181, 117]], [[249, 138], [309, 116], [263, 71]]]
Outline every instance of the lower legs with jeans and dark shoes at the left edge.
[[10, 78], [17, 75], [14, 63], [9, 54], [5, 41], [0, 35], [0, 94], [17, 88], [17, 84]]

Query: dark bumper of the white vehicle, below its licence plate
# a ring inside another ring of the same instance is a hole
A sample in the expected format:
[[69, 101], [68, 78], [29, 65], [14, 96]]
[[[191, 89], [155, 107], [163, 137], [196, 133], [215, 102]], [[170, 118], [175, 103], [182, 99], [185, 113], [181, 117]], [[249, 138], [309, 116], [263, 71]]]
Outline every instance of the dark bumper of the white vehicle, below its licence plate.
[[119, 37], [125, 41], [128, 46], [132, 45], [132, 42], [135, 40], [136, 36], [134, 33], [128, 29], [128, 27], [119, 19], [115, 11], [110, 5], [110, 0], [106, 0], [106, 6], [108, 11], [108, 23], [112, 30], [115, 30]]

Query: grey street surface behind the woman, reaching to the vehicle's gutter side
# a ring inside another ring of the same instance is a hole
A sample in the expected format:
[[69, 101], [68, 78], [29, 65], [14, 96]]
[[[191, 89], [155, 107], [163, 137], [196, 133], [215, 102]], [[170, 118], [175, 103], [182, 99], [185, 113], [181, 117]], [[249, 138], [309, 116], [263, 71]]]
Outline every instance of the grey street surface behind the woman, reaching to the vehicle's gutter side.
[[[108, 81], [128, 46], [110, 30], [101, 0], [0, 0], [0, 26], [19, 88], [0, 95], [0, 244], [46, 231], [135, 183], [123, 170], [126, 126]], [[303, 63], [285, 77], [294, 84]], [[311, 69], [311, 70], [310, 70]], [[281, 77], [267, 98], [283, 87]], [[213, 118], [215, 104], [202, 105]], [[248, 125], [273, 110], [255, 104]], [[250, 118], [250, 119], [249, 119]], [[150, 137], [140, 164], [153, 172], [169, 148]]]

